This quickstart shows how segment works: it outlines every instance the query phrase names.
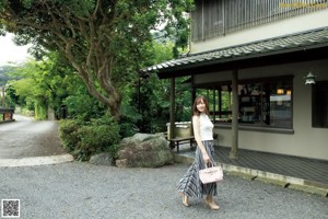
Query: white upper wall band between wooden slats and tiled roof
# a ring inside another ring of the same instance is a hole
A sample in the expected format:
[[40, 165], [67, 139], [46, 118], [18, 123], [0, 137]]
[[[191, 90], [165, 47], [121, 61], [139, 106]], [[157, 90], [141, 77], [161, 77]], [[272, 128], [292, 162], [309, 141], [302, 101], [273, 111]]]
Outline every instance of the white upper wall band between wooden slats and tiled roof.
[[328, 26], [328, 9], [303, 14], [286, 20], [254, 26], [244, 31], [230, 33], [226, 36], [191, 43], [191, 53], [201, 53], [233, 45], [246, 44], [255, 41], [278, 37], [282, 35], [304, 32], [307, 30]]

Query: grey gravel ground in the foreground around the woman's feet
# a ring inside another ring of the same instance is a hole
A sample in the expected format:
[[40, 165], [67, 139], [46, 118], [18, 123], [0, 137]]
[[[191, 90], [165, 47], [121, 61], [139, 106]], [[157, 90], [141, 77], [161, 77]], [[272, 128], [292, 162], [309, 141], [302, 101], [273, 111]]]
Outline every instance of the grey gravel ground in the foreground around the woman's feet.
[[327, 197], [229, 175], [219, 185], [219, 211], [195, 198], [184, 207], [175, 185], [188, 166], [119, 169], [71, 162], [0, 168], [0, 199], [20, 199], [23, 219], [328, 218]]

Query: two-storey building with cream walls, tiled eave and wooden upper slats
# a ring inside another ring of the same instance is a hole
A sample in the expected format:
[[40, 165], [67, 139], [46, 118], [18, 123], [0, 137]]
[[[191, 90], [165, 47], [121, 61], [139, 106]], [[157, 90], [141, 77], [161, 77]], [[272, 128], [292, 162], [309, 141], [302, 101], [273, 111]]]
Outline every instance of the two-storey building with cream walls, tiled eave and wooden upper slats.
[[328, 160], [327, 0], [196, 0], [191, 19], [190, 53], [142, 70], [172, 80], [172, 107], [190, 76], [221, 147]]

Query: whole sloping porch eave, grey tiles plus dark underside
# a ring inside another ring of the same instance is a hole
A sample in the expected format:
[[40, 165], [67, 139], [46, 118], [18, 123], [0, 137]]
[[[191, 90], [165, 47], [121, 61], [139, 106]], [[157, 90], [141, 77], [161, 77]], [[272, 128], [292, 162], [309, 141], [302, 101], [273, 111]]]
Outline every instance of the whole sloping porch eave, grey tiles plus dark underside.
[[190, 54], [141, 70], [161, 79], [328, 58], [328, 27]]

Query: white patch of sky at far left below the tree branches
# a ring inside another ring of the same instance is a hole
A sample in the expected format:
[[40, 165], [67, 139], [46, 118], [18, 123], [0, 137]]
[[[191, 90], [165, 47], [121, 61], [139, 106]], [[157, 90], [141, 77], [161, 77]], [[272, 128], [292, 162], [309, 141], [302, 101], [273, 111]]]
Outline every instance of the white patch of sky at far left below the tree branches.
[[22, 62], [31, 57], [27, 54], [28, 46], [16, 46], [12, 42], [12, 34], [0, 36], [0, 66], [11, 62]]

